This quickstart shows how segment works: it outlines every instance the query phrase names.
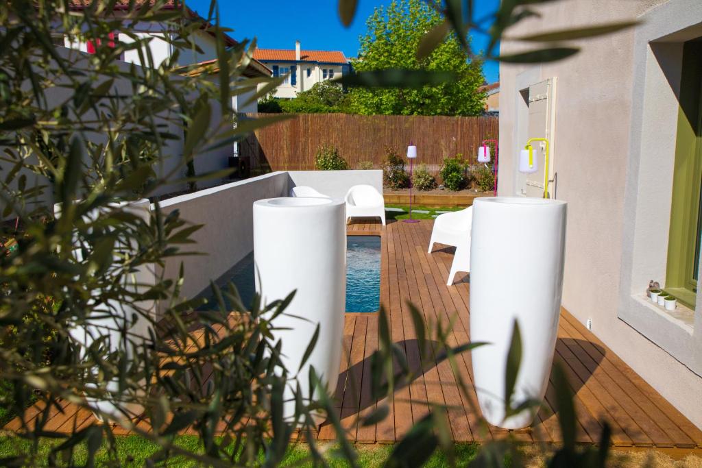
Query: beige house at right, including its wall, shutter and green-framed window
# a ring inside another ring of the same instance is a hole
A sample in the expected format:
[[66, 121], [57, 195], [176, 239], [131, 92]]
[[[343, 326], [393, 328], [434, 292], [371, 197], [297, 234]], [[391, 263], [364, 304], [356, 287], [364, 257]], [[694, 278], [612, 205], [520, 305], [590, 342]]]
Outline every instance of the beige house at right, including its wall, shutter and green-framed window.
[[[517, 156], [529, 138], [548, 138], [548, 196], [568, 202], [563, 306], [702, 427], [702, 2], [534, 10], [510, 37], [640, 24], [576, 43], [566, 60], [501, 63], [498, 192], [542, 196], [543, 165], [519, 173]], [[528, 46], [505, 40], [501, 54]], [[649, 300], [651, 280], [677, 309]]]

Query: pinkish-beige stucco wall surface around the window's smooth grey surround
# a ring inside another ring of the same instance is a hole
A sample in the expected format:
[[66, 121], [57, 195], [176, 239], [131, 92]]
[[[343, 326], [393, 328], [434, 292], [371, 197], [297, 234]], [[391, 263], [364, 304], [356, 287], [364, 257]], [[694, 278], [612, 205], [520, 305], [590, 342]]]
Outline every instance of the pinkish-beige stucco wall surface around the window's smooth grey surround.
[[[636, 18], [664, 3], [565, 0], [539, 7], [542, 18], [524, 21], [510, 29], [510, 35]], [[624, 237], [628, 228], [625, 185], [633, 113], [634, 44], [635, 31], [630, 29], [581, 41], [578, 45], [583, 51], [562, 62], [501, 65], [498, 191], [515, 194], [515, 156], [524, 145], [524, 141], [515, 140], [514, 131], [519, 89], [524, 84], [557, 77], [552, 163], [557, 198], [569, 204], [563, 305], [583, 323], [592, 319], [592, 331], [600, 339], [702, 427], [702, 377], [619, 318], [621, 265], [628, 248]], [[524, 46], [505, 41], [501, 53], [520, 48]], [[672, 160], [661, 163], [670, 166]], [[672, 171], [664, 169], [663, 174]], [[665, 252], [667, 237], [656, 248]], [[639, 286], [643, 292], [646, 285]]]

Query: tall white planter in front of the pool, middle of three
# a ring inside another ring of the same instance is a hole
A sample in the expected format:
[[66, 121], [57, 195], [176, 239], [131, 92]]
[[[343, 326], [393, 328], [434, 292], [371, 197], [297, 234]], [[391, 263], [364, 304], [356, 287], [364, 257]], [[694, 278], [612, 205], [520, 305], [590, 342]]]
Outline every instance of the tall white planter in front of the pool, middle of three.
[[[273, 325], [282, 359], [294, 375], [319, 323], [317, 346], [298, 374], [305, 398], [313, 366], [329, 392], [336, 389], [346, 302], [345, 203], [340, 199], [279, 198], [253, 203], [256, 291], [263, 303], [296, 295]], [[293, 316], [303, 317], [302, 320]], [[291, 396], [290, 392], [286, 395]], [[313, 397], [314, 398], [314, 397]], [[292, 415], [294, 402], [286, 403]]]

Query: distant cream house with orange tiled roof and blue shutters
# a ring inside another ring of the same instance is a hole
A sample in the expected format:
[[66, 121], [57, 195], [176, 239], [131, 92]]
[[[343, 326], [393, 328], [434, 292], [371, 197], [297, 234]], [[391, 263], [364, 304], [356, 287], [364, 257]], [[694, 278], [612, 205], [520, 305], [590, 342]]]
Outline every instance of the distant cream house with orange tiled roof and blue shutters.
[[300, 41], [295, 49], [258, 48], [253, 58], [272, 69], [273, 76], [284, 76], [275, 91], [276, 98], [295, 98], [315, 83], [335, 79], [350, 72], [351, 65], [340, 51], [303, 51]]

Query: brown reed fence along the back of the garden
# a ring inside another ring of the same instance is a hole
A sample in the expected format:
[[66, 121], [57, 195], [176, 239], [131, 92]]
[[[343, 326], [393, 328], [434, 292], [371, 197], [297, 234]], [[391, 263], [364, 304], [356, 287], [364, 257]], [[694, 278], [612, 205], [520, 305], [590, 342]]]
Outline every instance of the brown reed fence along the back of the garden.
[[416, 164], [437, 173], [444, 158], [456, 154], [476, 164], [484, 138], [498, 138], [497, 117], [297, 114], [251, 133], [239, 144], [239, 153], [251, 158], [254, 173], [313, 170], [314, 155], [325, 144], [336, 147], [352, 169], [364, 161], [381, 168], [386, 147], [404, 155], [413, 143], [418, 148]]

